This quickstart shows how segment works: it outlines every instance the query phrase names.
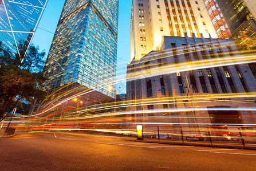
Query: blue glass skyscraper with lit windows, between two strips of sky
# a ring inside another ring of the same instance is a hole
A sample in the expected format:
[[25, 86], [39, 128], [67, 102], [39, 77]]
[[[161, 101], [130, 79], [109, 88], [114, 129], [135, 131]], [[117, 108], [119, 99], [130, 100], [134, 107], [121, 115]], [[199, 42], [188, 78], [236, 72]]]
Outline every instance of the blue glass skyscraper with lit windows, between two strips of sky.
[[48, 95], [70, 85], [115, 97], [118, 8], [118, 0], [65, 1], [44, 68]]

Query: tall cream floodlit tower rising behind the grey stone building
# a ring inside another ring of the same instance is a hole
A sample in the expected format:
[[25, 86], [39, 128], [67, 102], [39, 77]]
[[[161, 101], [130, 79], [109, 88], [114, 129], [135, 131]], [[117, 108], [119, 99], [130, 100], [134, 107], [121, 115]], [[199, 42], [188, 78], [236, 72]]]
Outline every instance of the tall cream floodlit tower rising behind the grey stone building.
[[131, 60], [158, 50], [163, 36], [218, 38], [203, 0], [133, 0]]

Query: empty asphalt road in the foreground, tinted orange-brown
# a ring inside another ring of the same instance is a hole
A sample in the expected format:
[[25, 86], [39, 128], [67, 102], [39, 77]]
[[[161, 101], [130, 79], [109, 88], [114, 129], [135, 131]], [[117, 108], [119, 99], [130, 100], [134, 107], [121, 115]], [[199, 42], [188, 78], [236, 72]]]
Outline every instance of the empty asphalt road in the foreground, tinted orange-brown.
[[140, 143], [78, 133], [0, 139], [0, 170], [256, 170], [256, 150]]

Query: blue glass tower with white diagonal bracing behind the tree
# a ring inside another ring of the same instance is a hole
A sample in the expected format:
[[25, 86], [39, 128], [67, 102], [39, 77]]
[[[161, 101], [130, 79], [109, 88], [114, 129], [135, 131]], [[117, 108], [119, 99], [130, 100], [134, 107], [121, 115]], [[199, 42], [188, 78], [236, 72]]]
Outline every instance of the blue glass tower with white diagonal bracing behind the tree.
[[26, 54], [47, 2], [0, 0], [0, 41], [13, 54], [19, 53], [19, 43], [23, 41], [25, 44], [22, 51]]

